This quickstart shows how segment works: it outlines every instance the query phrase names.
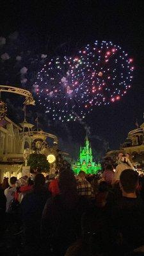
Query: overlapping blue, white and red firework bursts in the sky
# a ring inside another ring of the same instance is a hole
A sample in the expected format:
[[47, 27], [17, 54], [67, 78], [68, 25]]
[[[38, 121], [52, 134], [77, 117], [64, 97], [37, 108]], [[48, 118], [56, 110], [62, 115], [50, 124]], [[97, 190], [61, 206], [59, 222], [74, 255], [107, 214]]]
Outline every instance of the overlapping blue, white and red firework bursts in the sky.
[[106, 41], [88, 44], [74, 57], [52, 58], [36, 77], [38, 101], [53, 120], [84, 118], [95, 106], [127, 93], [132, 61], [119, 45]]

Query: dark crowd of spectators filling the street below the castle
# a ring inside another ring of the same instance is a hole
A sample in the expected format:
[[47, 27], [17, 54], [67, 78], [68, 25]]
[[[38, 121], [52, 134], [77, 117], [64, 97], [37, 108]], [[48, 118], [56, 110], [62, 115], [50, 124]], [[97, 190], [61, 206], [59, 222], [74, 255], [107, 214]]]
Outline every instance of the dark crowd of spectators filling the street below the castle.
[[1, 255], [143, 255], [144, 177], [118, 156], [98, 175], [4, 178], [0, 216]]

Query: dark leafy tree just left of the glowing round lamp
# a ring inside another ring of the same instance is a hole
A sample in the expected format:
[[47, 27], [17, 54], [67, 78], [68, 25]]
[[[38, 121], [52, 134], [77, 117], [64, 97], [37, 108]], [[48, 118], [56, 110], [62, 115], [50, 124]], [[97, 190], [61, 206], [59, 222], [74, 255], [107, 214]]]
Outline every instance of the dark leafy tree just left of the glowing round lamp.
[[44, 154], [30, 154], [28, 166], [32, 172], [36, 169], [39, 169], [40, 172], [49, 172], [49, 163]]

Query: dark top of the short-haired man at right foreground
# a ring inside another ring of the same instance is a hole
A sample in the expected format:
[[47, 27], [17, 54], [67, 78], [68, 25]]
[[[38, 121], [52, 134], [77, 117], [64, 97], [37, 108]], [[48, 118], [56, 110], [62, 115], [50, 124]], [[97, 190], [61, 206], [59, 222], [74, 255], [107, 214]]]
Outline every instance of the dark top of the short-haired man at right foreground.
[[144, 205], [141, 198], [122, 196], [113, 207], [113, 227], [122, 236], [125, 251], [144, 243]]

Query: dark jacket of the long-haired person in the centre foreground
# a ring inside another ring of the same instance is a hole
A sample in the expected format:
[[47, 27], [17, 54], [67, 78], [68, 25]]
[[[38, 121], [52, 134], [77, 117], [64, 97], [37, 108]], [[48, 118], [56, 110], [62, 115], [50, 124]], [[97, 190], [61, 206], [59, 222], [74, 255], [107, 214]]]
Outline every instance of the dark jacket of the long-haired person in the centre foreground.
[[67, 204], [62, 195], [47, 201], [42, 215], [42, 240], [52, 246], [54, 255], [65, 255], [68, 246], [80, 236], [81, 216], [87, 206], [79, 196], [74, 204]]

